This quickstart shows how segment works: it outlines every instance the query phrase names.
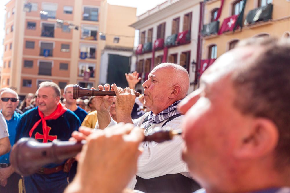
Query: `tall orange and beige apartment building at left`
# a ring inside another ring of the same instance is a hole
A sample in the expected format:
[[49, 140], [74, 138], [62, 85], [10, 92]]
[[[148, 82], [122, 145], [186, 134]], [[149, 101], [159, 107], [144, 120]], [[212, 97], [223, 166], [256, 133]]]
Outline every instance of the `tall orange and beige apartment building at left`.
[[[32, 0], [6, 4], [1, 87], [35, 93], [43, 81], [97, 87], [106, 46], [133, 48], [136, 8], [105, 0]], [[99, 33], [105, 35], [102, 40]], [[119, 38], [114, 43], [114, 38]]]

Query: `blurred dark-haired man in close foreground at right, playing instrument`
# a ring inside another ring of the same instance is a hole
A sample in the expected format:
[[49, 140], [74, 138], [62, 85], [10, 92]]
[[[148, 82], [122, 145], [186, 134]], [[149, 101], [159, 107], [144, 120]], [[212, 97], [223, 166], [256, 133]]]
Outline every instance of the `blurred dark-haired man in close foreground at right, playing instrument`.
[[[290, 192], [289, 52], [289, 40], [241, 42], [220, 56], [202, 74], [200, 88], [180, 103], [182, 157], [205, 188], [199, 192]], [[138, 143], [144, 139], [132, 129], [117, 125], [85, 137], [78, 173], [66, 193], [121, 192], [136, 172]], [[74, 133], [77, 139], [89, 134], [80, 131]]]

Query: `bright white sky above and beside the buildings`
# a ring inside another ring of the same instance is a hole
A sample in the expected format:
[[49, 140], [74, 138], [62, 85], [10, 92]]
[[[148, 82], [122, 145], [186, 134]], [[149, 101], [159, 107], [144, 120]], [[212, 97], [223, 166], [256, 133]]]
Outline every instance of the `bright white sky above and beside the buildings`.
[[[5, 21], [5, 4], [8, 3], [10, 0], [0, 0], [0, 66], [3, 65], [2, 57], [3, 57], [3, 39], [5, 37], [5, 30], [4, 30], [4, 21]], [[65, 1], [65, 0], [63, 0]], [[111, 5], [121, 5], [121, 6], [128, 6], [128, 7], [136, 7], [137, 8], [137, 15], [141, 15], [142, 13], [146, 12], [154, 8], [156, 5], [159, 5], [166, 0], [107, 0], [107, 2]], [[135, 33], [135, 36], [139, 33]], [[137, 41], [135, 39], [135, 45]]]

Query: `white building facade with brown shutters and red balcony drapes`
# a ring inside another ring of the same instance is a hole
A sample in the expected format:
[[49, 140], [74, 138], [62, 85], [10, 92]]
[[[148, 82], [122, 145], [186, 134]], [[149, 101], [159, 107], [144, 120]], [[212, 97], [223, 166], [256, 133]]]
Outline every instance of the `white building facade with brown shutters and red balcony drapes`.
[[142, 77], [137, 89], [159, 63], [183, 66], [190, 75], [189, 93], [197, 87], [197, 50], [200, 0], [168, 0], [137, 17], [131, 27], [140, 31], [136, 70]]

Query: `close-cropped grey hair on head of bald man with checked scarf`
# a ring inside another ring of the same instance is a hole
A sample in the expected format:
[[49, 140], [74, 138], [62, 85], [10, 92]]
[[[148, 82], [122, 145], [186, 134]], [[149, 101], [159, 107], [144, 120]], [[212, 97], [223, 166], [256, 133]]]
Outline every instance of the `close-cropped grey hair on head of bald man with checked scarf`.
[[174, 63], [161, 63], [155, 67], [155, 69], [159, 68], [170, 68], [174, 70], [174, 76], [170, 77], [170, 81], [168, 81], [168, 84], [169, 86], [180, 86], [180, 96], [182, 98], [186, 97], [190, 84], [189, 74], [187, 70], [184, 67]]

